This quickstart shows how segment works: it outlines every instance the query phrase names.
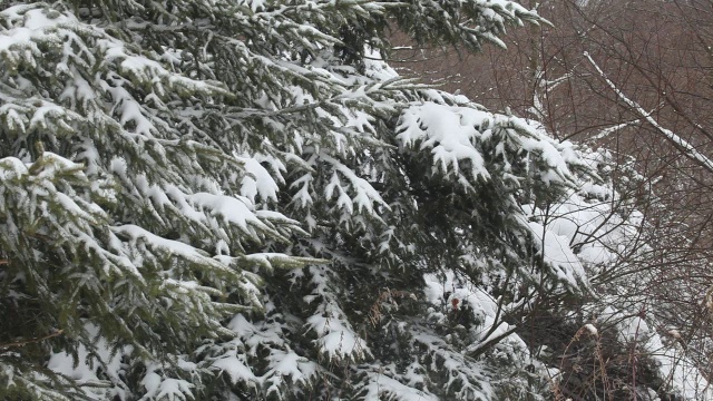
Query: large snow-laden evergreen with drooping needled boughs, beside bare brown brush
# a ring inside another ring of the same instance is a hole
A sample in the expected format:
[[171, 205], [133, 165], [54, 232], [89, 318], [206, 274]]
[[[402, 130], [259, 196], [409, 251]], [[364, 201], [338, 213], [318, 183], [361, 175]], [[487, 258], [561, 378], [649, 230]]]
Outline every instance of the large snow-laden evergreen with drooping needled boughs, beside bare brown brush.
[[584, 165], [381, 61], [390, 27], [477, 50], [522, 21], [504, 0], [4, 2], [0, 397], [534, 389], [508, 334], [586, 278], [521, 205]]

